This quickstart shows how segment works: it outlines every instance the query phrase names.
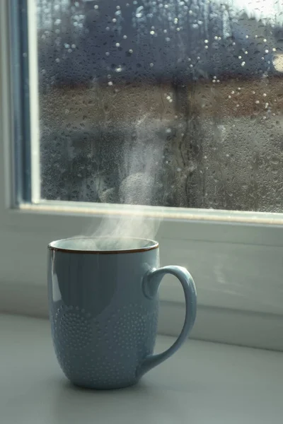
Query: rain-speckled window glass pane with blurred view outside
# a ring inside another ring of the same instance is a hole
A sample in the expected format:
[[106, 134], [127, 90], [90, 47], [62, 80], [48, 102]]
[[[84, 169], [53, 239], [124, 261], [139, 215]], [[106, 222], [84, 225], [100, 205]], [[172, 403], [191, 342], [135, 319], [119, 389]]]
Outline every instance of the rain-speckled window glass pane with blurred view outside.
[[283, 211], [283, 6], [37, 0], [41, 197]]

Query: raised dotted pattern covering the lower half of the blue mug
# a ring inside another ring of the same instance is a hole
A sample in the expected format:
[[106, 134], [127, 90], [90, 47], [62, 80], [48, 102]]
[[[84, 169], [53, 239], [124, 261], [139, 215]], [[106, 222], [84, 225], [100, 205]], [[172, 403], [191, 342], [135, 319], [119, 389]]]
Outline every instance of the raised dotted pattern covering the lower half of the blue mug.
[[152, 353], [158, 310], [127, 305], [93, 319], [79, 307], [61, 306], [52, 317], [54, 348], [64, 374], [84, 387], [114, 388], [133, 384]]

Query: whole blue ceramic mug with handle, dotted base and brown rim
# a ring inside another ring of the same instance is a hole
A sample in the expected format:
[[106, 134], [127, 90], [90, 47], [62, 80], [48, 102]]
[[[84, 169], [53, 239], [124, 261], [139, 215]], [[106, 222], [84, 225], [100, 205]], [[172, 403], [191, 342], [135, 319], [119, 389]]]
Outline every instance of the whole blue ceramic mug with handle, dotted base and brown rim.
[[[71, 382], [115, 389], [180, 348], [195, 322], [197, 295], [190, 273], [159, 266], [158, 243], [125, 238], [73, 238], [50, 243], [48, 295], [55, 353]], [[158, 286], [167, 273], [185, 294], [185, 324], [167, 351], [154, 355]]]

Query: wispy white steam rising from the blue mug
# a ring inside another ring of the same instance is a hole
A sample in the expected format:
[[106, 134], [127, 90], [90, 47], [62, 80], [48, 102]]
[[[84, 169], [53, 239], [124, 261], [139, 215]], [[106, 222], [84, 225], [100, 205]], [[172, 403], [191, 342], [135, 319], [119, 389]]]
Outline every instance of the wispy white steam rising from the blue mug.
[[[93, 228], [93, 225], [88, 228], [88, 237], [115, 238], [116, 241], [105, 240], [104, 249], [122, 248], [125, 237], [154, 239], [156, 236], [161, 218], [146, 217], [148, 207], [145, 205], [156, 204], [155, 196], [162, 189], [160, 174], [165, 141], [164, 137], [156, 136], [158, 124], [160, 126], [160, 122], [149, 122], [146, 117], [139, 120], [135, 124], [136, 139], [124, 143], [123, 163], [113, 163], [113, 168], [121, 168], [122, 175], [117, 189], [117, 203], [139, 206], [133, 213], [129, 211], [116, 218], [104, 216], [98, 228]], [[106, 192], [109, 190], [105, 191], [105, 194], [109, 194]], [[88, 248], [97, 248], [95, 240], [86, 240], [86, 244]]]

